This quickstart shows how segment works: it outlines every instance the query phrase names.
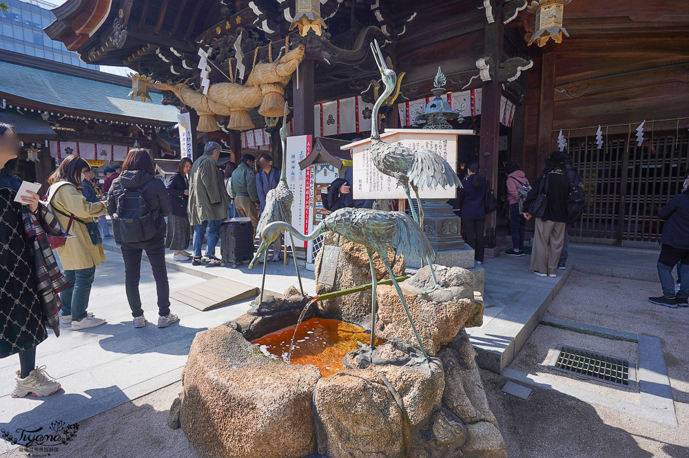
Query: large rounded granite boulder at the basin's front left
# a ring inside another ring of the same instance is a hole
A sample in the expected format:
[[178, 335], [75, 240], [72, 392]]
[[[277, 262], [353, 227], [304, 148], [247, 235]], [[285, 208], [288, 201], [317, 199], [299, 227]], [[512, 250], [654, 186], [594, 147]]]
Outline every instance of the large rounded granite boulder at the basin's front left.
[[266, 357], [229, 326], [196, 335], [180, 423], [207, 457], [300, 458], [316, 451], [311, 397], [320, 371]]

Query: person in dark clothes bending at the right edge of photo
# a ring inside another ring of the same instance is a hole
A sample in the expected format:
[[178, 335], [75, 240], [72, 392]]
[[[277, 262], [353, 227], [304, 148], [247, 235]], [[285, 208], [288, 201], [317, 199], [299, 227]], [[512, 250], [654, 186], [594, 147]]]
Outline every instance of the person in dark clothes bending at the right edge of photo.
[[[664, 305], [671, 309], [688, 307], [689, 304], [689, 174], [684, 179], [680, 194], [673, 197], [670, 203], [658, 212], [665, 220], [663, 234], [660, 238], [661, 249], [658, 258], [658, 276], [663, 287], [659, 298], [648, 298], [652, 304]], [[675, 293], [675, 279], [672, 269], [677, 266], [681, 272], [679, 291]]]

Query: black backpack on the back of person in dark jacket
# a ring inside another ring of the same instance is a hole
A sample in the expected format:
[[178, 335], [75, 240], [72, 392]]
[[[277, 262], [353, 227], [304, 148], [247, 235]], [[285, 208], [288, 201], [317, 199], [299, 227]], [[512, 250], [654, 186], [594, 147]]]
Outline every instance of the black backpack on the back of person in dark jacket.
[[143, 193], [156, 178], [142, 187], [124, 188], [117, 198], [117, 211], [112, 215], [112, 231], [118, 242], [144, 242], [158, 233], [160, 215], [153, 213], [143, 198]]

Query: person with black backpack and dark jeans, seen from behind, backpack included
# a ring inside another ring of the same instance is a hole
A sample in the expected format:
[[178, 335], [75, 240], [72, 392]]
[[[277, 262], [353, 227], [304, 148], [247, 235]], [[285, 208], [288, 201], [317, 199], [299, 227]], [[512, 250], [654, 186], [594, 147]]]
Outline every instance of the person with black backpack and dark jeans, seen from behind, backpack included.
[[165, 267], [165, 216], [172, 204], [163, 181], [155, 176], [150, 154], [134, 148], [127, 154], [122, 173], [107, 194], [107, 212], [112, 216], [115, 240], [122, 244], [125, 262], [125, 289], [134, 317], [134, 327], [143, 328], [146, 319], [141, 309], [138, 283], [141, 279], [141, 253], [146, 251], [158, 291], [158, 327], [179, 320], [170, 312], [169, 283]]

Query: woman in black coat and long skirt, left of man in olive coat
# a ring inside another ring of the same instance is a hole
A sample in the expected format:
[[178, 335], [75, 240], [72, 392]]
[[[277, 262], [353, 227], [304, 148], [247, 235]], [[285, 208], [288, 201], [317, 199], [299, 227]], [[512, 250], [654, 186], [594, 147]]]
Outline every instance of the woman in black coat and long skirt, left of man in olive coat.
[[[174, 261], [188, 261], [192, 255], [185, 251], [189, 248], [192, 229], [189, 226], [189, 171], [192, 171], [192, 160], [182, 158], [177, 173], [167, 182], [167, 192], [172, 202], [172, 214], [167, 217], [167, 236], [165, 248], [174, 250]], [[232, 216], [232, 214], [230, 215]]]

